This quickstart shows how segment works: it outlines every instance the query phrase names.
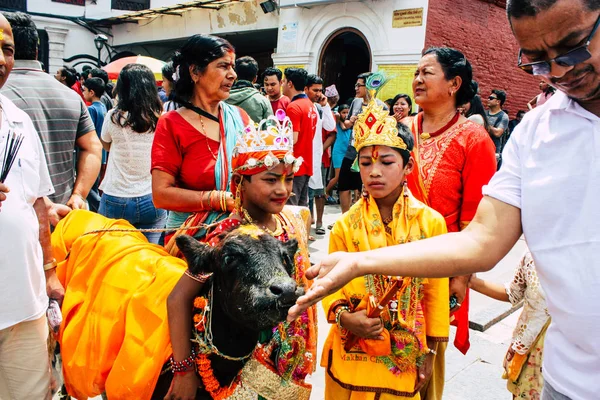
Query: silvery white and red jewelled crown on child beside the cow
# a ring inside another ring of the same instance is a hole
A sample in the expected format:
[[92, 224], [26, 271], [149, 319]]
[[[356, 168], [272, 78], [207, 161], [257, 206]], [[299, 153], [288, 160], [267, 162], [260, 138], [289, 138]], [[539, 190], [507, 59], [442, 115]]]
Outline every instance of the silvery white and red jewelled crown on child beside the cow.
[[233, 149], [231, 166], [233, 172], [254, 175], [284, 162], [297, 172], [302, 157], [294, 157], [294, 129], [283, 110], [274, 116], [250, 124], [238, 133]]

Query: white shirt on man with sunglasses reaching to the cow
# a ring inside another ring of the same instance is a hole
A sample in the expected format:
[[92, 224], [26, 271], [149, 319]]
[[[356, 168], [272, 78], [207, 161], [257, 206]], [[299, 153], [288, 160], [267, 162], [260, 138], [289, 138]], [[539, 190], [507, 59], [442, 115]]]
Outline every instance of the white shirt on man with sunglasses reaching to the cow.
[[521, 209], [552, 323], [544, 378], [558, 392], [600, 393], [600, 118], [557, 92], [528, 112], [485, 195]]

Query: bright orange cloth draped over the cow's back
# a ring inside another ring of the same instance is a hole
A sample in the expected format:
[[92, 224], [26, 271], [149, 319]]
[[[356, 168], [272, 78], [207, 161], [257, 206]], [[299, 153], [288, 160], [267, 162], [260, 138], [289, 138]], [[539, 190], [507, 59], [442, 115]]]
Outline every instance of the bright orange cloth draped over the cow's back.
[[59, 342], [69, 394], [150, 399], [171, 354], [166, 300], [187, 268], [139, 232], [89, 211], [72, 211], [52, 234], [65, 287]]

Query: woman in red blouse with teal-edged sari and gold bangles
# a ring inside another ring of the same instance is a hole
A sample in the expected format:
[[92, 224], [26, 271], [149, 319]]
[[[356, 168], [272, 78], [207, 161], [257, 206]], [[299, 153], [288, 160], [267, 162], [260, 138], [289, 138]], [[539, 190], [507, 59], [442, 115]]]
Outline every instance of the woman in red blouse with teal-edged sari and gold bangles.
[[[181, 106], [158, 121], [152, 145], [152, 199], [171, 211], [167, 228], [193, 236], [185, 227], [220, 221], [233, 209], [231, 152], [250, 118], [223, 100], [237, 75], [235, 52], [225, 39], [194, 35], [173, 57], [175, 100]], [[172, 240], [165, 247], [177, 253]]]

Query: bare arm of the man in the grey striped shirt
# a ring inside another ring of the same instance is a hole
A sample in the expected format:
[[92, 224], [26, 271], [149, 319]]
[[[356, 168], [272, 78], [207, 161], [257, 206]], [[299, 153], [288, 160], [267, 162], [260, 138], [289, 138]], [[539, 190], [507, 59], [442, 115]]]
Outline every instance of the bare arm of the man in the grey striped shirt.
[[75, 144], [80, 150], [77, 160], [77, 177], [67, 205], [73, 209], [80, 209], [84, 207], [84, 200], [100, 174], [102, 144], [96, 131], [81, 135]]

